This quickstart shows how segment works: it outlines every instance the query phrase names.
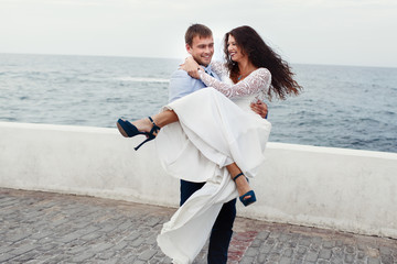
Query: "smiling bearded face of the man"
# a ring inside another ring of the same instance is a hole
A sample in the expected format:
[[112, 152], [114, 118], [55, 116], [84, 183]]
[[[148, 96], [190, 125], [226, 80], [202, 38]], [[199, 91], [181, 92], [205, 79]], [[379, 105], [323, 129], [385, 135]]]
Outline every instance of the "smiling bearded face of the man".
[[193, 56], [193, 58], [200, 65], [207, 66], [211, 63], [214, 55], [214, 38], [194, 36], [192, 46], [186, 44], [186, 51]]

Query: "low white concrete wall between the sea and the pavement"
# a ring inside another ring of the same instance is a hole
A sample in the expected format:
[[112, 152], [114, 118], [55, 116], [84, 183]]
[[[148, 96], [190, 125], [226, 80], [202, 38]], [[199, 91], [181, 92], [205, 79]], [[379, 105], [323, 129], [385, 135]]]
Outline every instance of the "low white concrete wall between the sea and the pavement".
[[[116, 129], [0, 122], [0, 187], [176, 207], [154, 144]], [[397, 239], [397, 154], [269, 143], [238, 215]]]

